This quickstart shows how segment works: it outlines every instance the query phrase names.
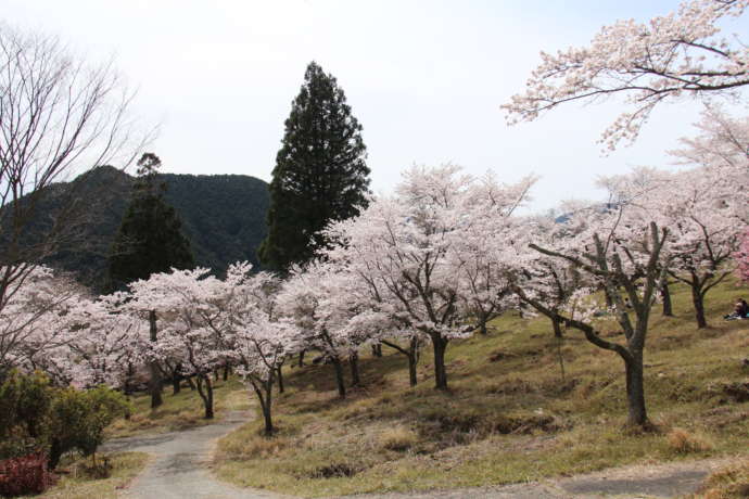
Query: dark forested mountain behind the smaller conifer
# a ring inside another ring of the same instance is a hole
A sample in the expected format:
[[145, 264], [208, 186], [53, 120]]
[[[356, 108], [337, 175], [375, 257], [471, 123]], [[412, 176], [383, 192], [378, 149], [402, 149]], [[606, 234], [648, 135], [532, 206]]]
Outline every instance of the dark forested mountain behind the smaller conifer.
[[[195, 263], [223, 273], [237, 260], [258, 266], [255, 252], [266, 235], [268, 184], [244, 175], [162, 174], [166, 201], [182, 221]], [[90, 212], [75, 242], [58, 252], [49, 264], [75, 272], [99, 289], [106, 276], [106, 258], [128, 205], [134, 178], [114, 167], [88, 171], [56, 190], [73, 190]], [[54, 199], [46, 209], [54, 212]]]

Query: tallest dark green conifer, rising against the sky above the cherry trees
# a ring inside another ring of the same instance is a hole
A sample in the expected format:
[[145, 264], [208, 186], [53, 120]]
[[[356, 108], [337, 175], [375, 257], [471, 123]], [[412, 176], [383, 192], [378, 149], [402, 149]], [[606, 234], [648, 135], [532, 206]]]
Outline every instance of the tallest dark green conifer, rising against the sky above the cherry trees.
[[322, 244], [319, 230], [358, 215], [369, 193], [366, 157], [361, 125], [343, 90], [309, 63], [270, 182], [268, 235], [257, 252], [266, 268], [283, 271], [307, 261]]

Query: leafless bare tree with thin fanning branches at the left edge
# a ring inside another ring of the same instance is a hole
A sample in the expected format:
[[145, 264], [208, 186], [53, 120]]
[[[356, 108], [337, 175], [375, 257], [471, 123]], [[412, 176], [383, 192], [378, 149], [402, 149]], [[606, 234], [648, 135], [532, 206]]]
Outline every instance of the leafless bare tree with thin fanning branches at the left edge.
[[0, 23], [0, 311], [93, 212], [58, 182], [127, 165], [142, 146], [132, 97], [111, 62], [87, 64], [55, 37]]

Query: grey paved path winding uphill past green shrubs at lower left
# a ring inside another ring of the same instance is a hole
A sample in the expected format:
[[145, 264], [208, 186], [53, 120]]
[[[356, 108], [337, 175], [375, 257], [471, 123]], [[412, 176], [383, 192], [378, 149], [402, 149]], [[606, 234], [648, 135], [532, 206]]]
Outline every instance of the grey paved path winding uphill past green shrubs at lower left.
[[266, 491], [233, 487], [211, 475], [211, 452], [216, 439], [241, 426], [249, 418], [247, 412], [231, 412], [221, 421], [194, 430], [111, 440], [102, 450], [137, 450], [154, 456], [145, 471], [124, 490], [126, 498], [280, 498]]

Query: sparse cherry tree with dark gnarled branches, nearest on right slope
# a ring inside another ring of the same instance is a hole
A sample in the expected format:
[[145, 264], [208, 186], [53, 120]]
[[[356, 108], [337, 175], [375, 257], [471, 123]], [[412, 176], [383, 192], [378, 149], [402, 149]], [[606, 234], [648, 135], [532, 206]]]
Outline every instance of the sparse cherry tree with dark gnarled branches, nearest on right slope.
[[[606, 209], [594, 207], [571, 215], [567, 234], [531, 236], [535, 242], [529, 246], [534, 252], [520, 251], [516, 259], [516, 293], [553, 321], [583, 332], [595, 346], [620, 356], [626, 374], [629, 422], [645, 426], [648, 418], [643, 355], [650, 309], [669, 268], [664, 251], [669, 230], [655, 221], [643, 225], [636, 207], [626, 201], [620, 196]], [[522, 241], [529, 236], [520, 233], [518, 238]], [[543, 272], [524, 271], [543, 266], [546, 258], [571, 265], [583, 279], [561, 309], [551, 306], [554, 295], [548, 290], [553, 279]], [[601, 335], [597, 311], [606, 306], [598, 303], [600, 289], [611, 300], [610, 311], [622, 329], [622, 343]]]

